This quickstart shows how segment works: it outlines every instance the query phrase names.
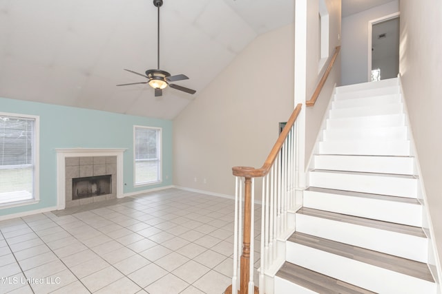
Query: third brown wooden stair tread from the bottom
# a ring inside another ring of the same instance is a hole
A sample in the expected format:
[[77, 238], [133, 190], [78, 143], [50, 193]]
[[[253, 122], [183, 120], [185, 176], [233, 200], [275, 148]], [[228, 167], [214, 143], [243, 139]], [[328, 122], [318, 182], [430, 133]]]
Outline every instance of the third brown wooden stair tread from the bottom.
[[311, 209], [302, 207], [296, 213], [305, 216], [314, 216], [317, 218], [327, 218], [329, 220], [336, 220], [338, 222], [347, 222], [365, 227], [372, 227], [382, 229], [385, 231], [392, 231], [396, 233], [403, 233], [407, 235], [414, 235], [420, 238], [426, 238], [425, 233], [421, 227], [412, 227], [405, 224], [396, 224], [394, 222], [384, 222], [382, 220], [372, 220], [369, 218], [360, 218], [358, 216], [348, 216], [342, 213], [334, 213], [330, 211], [323, 211], [319, 209]]

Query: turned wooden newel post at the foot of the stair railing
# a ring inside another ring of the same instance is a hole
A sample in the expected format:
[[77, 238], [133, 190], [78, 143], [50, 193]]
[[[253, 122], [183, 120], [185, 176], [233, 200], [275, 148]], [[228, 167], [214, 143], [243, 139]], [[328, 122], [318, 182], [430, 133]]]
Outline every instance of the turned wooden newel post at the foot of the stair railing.
[[[250, 242], [251, 242], [251, 178], [245, 178], [244, 185], [244, 231], [242, 232], [242, 254], [240, 258], [240, 290], [239, 294], [249, 293], [250, 278]], [[255, 286], [254, 293], [259, 293]], [[232, 294], [232, 286], [227, 287], [224, 294]]]

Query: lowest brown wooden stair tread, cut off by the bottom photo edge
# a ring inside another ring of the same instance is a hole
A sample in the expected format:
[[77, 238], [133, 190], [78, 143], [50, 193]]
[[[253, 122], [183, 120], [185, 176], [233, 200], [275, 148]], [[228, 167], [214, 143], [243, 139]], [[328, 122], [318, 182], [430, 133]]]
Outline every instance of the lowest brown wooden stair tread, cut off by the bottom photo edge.
[[322, 273], [305, 269], [302, 266], [298, 266], [290, 262], [285, 262], [284, 264], [282, 264], [280, 270], [278, 271], [278, 273], [276, 273], [276, 275], [278, 277], [281, 277], [282, 279], [288, 280], [289, 282], [294, 282], [295, 284], [303, 286], [304, 288], [308, 288], [311, 291], [315, 291], [317, 293], [325, 293], [325, 294], [374, 293], [364, 288], [348, 284], [341, 280], [336, 280], [334, 277], [329, 277], [327, 275], [323, 275]]

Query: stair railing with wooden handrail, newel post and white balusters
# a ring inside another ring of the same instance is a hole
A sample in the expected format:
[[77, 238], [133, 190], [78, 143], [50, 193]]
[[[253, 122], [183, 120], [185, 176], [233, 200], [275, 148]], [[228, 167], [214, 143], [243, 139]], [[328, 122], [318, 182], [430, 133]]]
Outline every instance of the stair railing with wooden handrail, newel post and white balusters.
[[[301, 107], [302, 104], [296, 105], [262, 167], [259, 169], [233, 167], [232, 169], [233, 176], [236, 176], [233, 277], [231, 286], [225, 291], [226, 294], [265, 293], [265, 271], [271, 269], [277, 260], [285, 257], [285, 252], [278, 254], [277, 243], [287, 231], [294, 229], [290, 227], [294, 225], [294, 222], [289, 224], [287, 212], [296, 204], [297, 183], [295, 181], [296, 158], [298, 157], [295, 147], [296, 118]], [[253, 248], [256, 178], [262, 178], [259, 288], [254, 282], [255, 249]], [[242, 216], [243, 211], [244, 216]], [[240, 235], [242, 227], [244, 229]], [[239, 252], [242, 252], [242, 255], [239, 258], [240, 266], [238, 267]]]

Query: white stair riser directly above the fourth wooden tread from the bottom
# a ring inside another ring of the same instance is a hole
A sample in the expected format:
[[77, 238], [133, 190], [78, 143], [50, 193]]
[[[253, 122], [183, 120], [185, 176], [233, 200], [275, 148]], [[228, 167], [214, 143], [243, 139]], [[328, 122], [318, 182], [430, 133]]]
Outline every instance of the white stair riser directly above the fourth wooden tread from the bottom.
[[388, 196], [406, 198], [417, 197], [416, 178], [310, 171], [309, 185], [310, 187], [356, 191]]

